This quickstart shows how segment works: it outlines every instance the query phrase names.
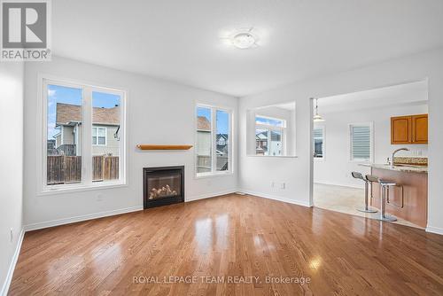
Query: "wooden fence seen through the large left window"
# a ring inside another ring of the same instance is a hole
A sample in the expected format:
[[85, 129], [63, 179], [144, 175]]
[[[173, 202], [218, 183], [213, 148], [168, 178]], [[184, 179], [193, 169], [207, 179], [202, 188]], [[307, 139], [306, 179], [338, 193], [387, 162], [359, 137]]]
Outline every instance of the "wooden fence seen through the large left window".
[[[92, 181], [119, 178], [118, 156], [93, 156]], [[67, 184], [82, 181], [82, 156], [50, 155], [47, 160], [47, 183]]]

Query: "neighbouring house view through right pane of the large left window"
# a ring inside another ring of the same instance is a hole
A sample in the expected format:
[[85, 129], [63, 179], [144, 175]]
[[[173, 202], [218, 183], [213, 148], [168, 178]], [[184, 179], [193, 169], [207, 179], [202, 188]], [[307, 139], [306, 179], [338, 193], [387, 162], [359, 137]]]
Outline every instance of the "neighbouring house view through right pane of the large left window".
[[120, 95], [92, 91], [92, 181], [119, 178]]

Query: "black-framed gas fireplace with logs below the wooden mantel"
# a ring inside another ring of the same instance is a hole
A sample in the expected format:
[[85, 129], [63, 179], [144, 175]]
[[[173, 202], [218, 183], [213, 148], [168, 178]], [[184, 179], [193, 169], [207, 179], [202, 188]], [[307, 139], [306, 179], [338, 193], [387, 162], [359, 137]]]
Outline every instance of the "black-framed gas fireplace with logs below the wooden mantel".
[[144, 167], [144, 208], [184, 201], [184, 167]]

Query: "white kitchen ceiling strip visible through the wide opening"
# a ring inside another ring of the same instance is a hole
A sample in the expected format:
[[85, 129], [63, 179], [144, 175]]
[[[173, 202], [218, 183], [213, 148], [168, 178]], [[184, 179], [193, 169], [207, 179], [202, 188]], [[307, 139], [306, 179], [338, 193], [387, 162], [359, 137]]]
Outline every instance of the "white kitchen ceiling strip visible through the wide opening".
[[421, 105], [427, 104], [427, 100], [428, 82], [410, 82], [375, 90], [321, 97], [318, 99], [318, 112], [322, 114], [382, 108], [390, 105]]

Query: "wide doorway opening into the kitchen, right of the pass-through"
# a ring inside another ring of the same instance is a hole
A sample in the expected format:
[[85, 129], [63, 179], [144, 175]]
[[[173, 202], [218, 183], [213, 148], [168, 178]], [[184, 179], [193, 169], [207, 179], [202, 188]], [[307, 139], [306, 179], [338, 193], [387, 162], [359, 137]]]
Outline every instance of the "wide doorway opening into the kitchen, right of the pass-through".
[[[404, 172], [401, 174], [406, 174], [408, 167], [416, 167], [411, 168], [416, 169], [416, 172], [411, 174], [419, 174], [421, 171], [427, 176], [427, 141], [392, 143], [392, 118], [427, 116], [427, 99], [427, 81], [314, 99], [314, 122], [311, 133], [314, 206], [378, 219], [379, 208], [377, 213], [363, 213], [357, 210], [358, 207], [365, 205], [365, 182], [354, 178], [351, 173], [359, 172], [365, 178], [366, 175], [374, 175], [377, 172], [376, 166], [388, 168], [384, 166], [391, 161], [392, 152], [398, 148], [408, 149], [395, 154], [395, 168], [399, 168], [399, 172], [403, 169]], [[380, 172], [385, 171], [378, 171], [377, 174], [389, 179], [389, 174], [386, 177]], [[408, 181], [398, 182], [401, 191], [405, 188], [407, 190], [405, 192], [414, 191], [415, 189], [408, 188], [406, 182]], [[425, 197], [410, 197], [409, 193], [401, 195], [392, 193], [396, 189], [397, 187], [392, 187], [391, 199], [395, 197], [401, 199], [401, 202], [407, 199], [411, 203], [419, 201], [426, 205], [427, 212], [427, 192]], [[369, 183], [368, 195], [369, 206], [380, 207], [378, 183], [373, 185]], [[398, 214], [399, 210], [393, 204], [391, 201], [387, 211]], [[395, 206], [400, 207], [399, 205], [400, 201]], [[397, 223], [419, 228], [425, 226], [415, 218], [398, 215]]]

